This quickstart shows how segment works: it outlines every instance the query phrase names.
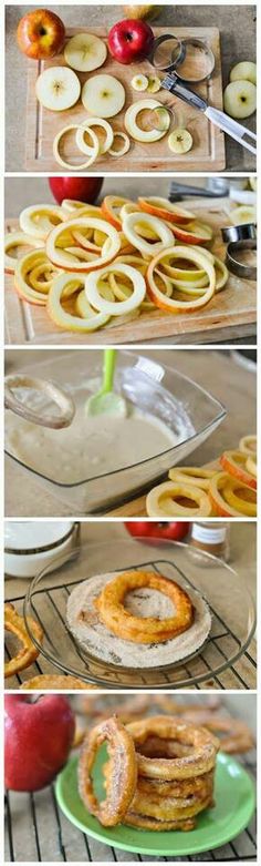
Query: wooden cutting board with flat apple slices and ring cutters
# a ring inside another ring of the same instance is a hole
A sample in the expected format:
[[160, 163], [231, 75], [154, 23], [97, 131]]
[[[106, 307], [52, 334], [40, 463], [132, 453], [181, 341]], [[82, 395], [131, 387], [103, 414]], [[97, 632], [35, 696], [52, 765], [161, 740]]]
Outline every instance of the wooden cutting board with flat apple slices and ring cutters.
[[[107, 32], [103, 28], [79, 28], [69, 29], [67, 39], [81, 32], [92, 32], [106, 41]], [[154, 28], [155, 35], [166, 32], [165, 28]], [[215, 72], [209, 81], [195, 85], [194, 89], [203, 99], [206, 99], [216, 109], [222, 109], [222, 78], [221, 78], [221, 58], [219, 30], [217, 28], [168, 28], [168, 33], [174, 33], [178, 38], [194, 37], [202, 39], [211, 48], [216, 65]], [[50, 65], [66, 65], [63, 54], [58, 54], [50, 61], [28, 60], [28, 95], [27, 95], [27, 135], [25, 135], [25, 170], [33, 172], [55, 172], [61, 170], [53, 156], [52, 145], [55, 134], [70, 123], [82, 123], [86, 118], [86, 111], [82, 102], [67, 111], [52, 112], [43, 109], [35, 98], [35, 83], [38, 75]], [[105, 64], [91, 73], [77, 73], [83, 84], [90, 75], [106, 72], [115, 75], [124, 85], [126, 92], [126, 102], [123, 111], [112, 120], [113, 129], [124, 130], [124, 115], [126, 109], [134, 102], [146, 98], [146, 93], [137, 93], [130, 86], [132, 78], [137, 73], [152, 73], [153, 69], [148, 61], [143, 63], [132, 63], [123, 65], [117, 63], [108, 53]], [[149, 98], [149, 94], [147, 94]], [[191, 109], [185, 102], [177, 100], [167, 90], [161, 90], [159, 94], [153, 94], [153, 99], [171, 106], [174, 111], [174, 126], [186, 126], [192, 134], [194, 147], [184, 156], [173, 154], [167, 145], [167, 136], [153, 144], [140, 144], [132, 142], [128, 153], [114, 159], [107, 154], [100, 157], [87, 173], [103, 174], [104, 172], [149, 172], [149, 171], [220, 171], [226, 167], [225, 159], [225, 136], [223, 133], [213, 126], [205, 118], [202, 112]], [[83, 154], [79, 154], [75, 146], [75, 133], [69, 133], [65, 141], [62, 142], [63, 155], [72, 162], [83, 162]]]

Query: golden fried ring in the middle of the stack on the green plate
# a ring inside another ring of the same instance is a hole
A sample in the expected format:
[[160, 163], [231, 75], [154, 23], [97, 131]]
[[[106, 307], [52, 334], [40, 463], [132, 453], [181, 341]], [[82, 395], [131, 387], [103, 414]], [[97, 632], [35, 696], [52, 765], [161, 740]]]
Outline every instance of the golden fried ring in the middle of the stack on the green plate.
[[209, 786], [213, 783], [213, 771], [205, 773], [202, 776], [195, 776], [195, 778], [181, 778], [174, 780], [173, 782], [165, 782], [160, 778], [144, 778], [138, 776], [137, 791], [140, 794], [152, 794], [154, 797], [177, 797], [185, 798], [196, 795], [198, 799], [205, 799], [207, 796]]

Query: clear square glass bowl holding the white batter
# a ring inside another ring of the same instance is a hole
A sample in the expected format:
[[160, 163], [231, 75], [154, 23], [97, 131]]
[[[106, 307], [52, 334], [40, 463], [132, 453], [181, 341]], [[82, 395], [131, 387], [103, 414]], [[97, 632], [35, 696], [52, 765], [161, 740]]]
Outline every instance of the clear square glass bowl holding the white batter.
[[[146, 371], [144, 371], [146, 363]], [[67, 389], [75, 403], [85, 400], [93, 393], [93, 383], [98, 388], [102, 376], [103, 354], [101, 350], [76, 350], [59, 354], [55, 359], [33, 365], [33, 375]], [[22, 370], [32, 374], [32, 366]], [[90, 387], [92, 383], [92, 389]], [[158, 417], [184, 439], [168, 447], [156, 457], [140, 462], [115, 467], [115, 471], [96, 475], [73, 483], [61, 483], [53, 477], [29, 467], [18, 459], [6, 442], [6, 454], [21, 468], [24, 478], [29, 473], [44, 485], [71, 509], [72, 516], [94, 514], [128, 501], [156, 483], [171, 466], [185, 461], [191, 451], [207, 439], [226, 417], [226, 409], [197, 383], [178, 371], [137, 353], [118, 353], [115, 375], [115, 390], [118, 390], [139, 409]], [[18, 424], [21, 419], [18, 418]], [[62, 460], [62, 449], [61, 449]], [[115, 449], [116, 462], [116, 449]]]

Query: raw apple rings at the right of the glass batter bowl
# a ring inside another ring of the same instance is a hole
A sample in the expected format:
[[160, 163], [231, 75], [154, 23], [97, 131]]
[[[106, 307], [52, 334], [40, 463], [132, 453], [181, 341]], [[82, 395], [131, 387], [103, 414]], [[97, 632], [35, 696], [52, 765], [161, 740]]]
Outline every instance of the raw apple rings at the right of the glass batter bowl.
[[179, 466], [147, 496], [149, 517], [257, 517], [257, 437], [243, 436], [217, 469]]

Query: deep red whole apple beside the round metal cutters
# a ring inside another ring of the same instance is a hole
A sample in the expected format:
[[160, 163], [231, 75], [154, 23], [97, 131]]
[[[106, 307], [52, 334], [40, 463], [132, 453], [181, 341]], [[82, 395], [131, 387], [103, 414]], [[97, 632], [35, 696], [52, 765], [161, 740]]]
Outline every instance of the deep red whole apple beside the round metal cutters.
[[108, 33], [108, 48], [118, 63], [144, 60], [152, 51], [153, 42], [154, 34], [149, 24], [134, 18], [117, 21]]

